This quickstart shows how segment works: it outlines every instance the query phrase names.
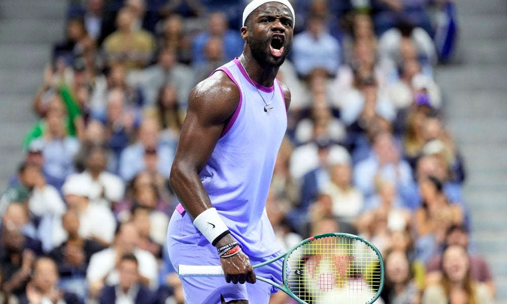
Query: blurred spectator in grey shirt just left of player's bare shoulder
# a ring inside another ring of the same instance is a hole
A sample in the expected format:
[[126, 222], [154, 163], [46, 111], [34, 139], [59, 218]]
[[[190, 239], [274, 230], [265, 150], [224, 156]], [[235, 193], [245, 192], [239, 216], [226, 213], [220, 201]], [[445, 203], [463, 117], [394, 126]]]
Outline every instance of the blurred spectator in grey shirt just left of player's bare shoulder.
[[193, 71], [186, 65], [176, 61], [174, 50], [160, 50], [156, 64], [142, 70], [139, 75], [132, 76], [146, 94], [146, 105], [156, 105], [160, 92], [165, 85], [176, 89], [176, 100], [182, 108], [187, 107], [187, 100], [194, 83]]

